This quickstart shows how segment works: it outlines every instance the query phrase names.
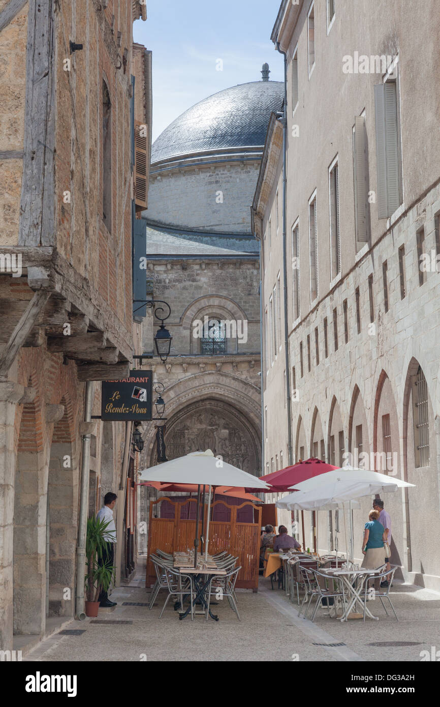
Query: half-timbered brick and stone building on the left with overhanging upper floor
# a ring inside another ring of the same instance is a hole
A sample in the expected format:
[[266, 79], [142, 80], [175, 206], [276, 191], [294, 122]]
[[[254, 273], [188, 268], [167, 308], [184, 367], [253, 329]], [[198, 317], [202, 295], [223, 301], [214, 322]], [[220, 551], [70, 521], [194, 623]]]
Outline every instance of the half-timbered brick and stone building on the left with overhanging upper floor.
[[[121, 487], [124, 546], [131, 428], [93, 416], [100, 381], [126, 375], [142, 344], [131, 253], [132, 126], [148, 121], [150, 105], [145, 49], [133, 62], [132, 25], [141, 17], [145, 4], [134, 0], [0, 4], [5, 650], [13, 635], [25, 648], [83, 612], [82, 481], [87, 515]], [[119, 577], [124, 569], [122, 550]]]

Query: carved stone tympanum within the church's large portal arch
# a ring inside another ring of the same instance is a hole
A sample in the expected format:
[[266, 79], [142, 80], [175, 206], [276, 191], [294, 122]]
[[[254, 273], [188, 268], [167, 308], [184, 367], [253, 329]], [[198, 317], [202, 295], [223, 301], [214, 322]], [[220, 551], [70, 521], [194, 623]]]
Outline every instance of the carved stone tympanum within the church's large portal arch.
[[[259, 438], [254, 425], [229, 402], [206, 398], [177, 411], [167, 423], [167, 459], [211, 449], [228, 464], [258, 476]], [[150, 465], [155, 464], [155, 445]]]

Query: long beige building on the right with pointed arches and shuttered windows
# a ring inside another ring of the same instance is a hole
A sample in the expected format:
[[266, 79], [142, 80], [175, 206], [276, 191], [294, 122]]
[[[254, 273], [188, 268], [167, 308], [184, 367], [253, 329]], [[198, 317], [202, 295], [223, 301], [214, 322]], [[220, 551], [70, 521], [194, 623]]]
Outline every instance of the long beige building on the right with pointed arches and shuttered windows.
[[[391, 562], [438, 590], [440, 12], [435, 2], [417, 13], [351, 5], [347, 16], [324, 0], [283, 1], [273, 28], [287, 62], [287, 256], [273, 115], [253, 206], [267, 310], [264, 463], [271, 471], [278, 456], [281, 467], [283, 452], [285, 464], [291, 440], [293, 461], [349, 462], [415, 484], [383, 496]], [[354, 511], [357, 559], [371, 500]], [[317, 515], [318, 546], [333, 548], [334, 513]]]

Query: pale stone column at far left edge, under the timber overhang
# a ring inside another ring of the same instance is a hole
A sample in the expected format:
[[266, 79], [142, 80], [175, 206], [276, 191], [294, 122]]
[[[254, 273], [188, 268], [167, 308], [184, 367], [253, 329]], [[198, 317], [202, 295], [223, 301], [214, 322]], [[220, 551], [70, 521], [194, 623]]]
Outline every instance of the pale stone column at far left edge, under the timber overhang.
[[13, 633], [13, 508], [16, 474], [14, 423], [25, 389], [0, 382], [0, 649], [12, 650]]

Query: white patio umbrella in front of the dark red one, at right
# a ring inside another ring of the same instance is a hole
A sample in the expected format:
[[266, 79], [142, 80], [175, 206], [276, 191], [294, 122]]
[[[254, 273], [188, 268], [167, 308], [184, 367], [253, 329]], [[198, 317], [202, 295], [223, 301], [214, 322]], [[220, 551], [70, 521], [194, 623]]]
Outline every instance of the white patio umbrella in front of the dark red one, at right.
[[[415, 486], [408, 484], [397, 477], [390, 477], [387, 474], [371, 472], [369, 469], [356, 469], [355, 467], [343, 467], [333, 469], [326, 474], [312, 477], [300, 484], [292, 486], [297, 489], [295, 493], [285, 496], [282, 501], [283, 508], [288, 510], [317, 510], [338, 508], [344, 502], [350, 502], [350, 555], [353, 560], [353, 518], [352, 501], [363, 496], [372, 496], [376, 493], [391, 493], [403, 487]], [[300, 495], [299, 495], [300, 494]]]

